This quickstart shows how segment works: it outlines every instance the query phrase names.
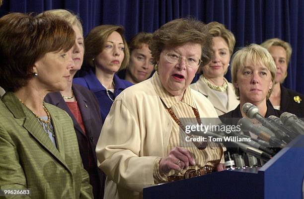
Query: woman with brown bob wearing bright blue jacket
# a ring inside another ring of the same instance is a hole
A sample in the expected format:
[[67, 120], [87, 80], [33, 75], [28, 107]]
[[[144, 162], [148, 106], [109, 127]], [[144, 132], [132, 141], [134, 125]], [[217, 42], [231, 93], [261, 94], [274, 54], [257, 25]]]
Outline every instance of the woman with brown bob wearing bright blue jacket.
[[96, 95], [103, 121], [115, 97], [133, 85], [115, 74], [129, 64], [130, 54], [123, 33], [124, 28], [117, 25], [93, 28], [84, 40], [84, 64], [88, 74], [73, 80]]

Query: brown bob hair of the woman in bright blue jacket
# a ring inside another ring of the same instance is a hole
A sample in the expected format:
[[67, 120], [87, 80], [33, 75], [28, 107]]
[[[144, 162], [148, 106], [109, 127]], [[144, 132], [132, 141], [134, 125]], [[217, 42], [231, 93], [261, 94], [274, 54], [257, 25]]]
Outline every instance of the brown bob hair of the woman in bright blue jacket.
[[121, 63], [120, 70], [124, 69], [129, 64], [130, 53], [128, 49], [127, 41], [124, 37], [125, 29], [122, 26], [118, 25], [100, 25], [93, 28], [86, 38], [84, 39], [85, 53], [84, 53], [84, 62], [87, 67], [95, 67], [93, 59], [98, 56], [105, 48], [105, 43], [113, 32], [118, 32], [122, 37], [125, 49], [124, 49], [124, 59]]

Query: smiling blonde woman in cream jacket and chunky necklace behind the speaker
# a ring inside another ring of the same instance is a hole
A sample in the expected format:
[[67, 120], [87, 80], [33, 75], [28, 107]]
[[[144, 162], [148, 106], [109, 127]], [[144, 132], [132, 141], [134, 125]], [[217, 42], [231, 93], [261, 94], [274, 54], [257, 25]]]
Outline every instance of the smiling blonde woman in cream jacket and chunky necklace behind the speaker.
[[232, 84], [224, 77], [228, 71], [235, 38], [232, 32], [219, 22], [210, 22], [207, 28], [213, 39], [214, 57], [202, 67], [200, 78], [190, 87], [205, 95], [212, 102], [218, 115], [223, 115], [239, 104]]

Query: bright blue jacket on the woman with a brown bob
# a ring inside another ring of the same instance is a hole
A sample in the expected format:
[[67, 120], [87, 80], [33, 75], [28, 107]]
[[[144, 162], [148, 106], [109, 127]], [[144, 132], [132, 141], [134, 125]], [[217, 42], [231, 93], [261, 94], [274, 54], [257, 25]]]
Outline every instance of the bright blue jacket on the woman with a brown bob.
[[[124, 89], [133, 85], [131, 82], [127, 80], [120, 79], [116, 74], [114, 74], [113, 80], [115, 83], [114, 94], [111, 91], [109, 91], [109, 95], [113, 100]], [[90, 70], [88, 74], [85, 75], [84, 77], [74, 78], [73, 83], [80, 84], [81, 86], [88, 88], [90, 91], [92, 91], [95, 94], [99, 103], [102, 121], [105, 121], [113, 102], [108, 97], [105, 87], [103, 87], [103, 85], [97, 79], [93, 71]]]

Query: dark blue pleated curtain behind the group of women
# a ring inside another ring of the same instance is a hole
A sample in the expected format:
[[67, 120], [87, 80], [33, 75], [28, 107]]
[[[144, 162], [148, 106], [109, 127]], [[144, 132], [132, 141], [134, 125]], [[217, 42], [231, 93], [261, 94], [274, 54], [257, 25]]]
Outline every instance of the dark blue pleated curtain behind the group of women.
[[172, 19], [193, 16], [225, 24], [236, 38], [235, 50], [278, 37], [293, 48], [284, 85], [304, 93], [304, 0], [3, 0], [0, 16], [58, 8], [79, 14], [84, 35], [100, 24], [120, 24], [130, 39], [139, 31], [153, 32]]

